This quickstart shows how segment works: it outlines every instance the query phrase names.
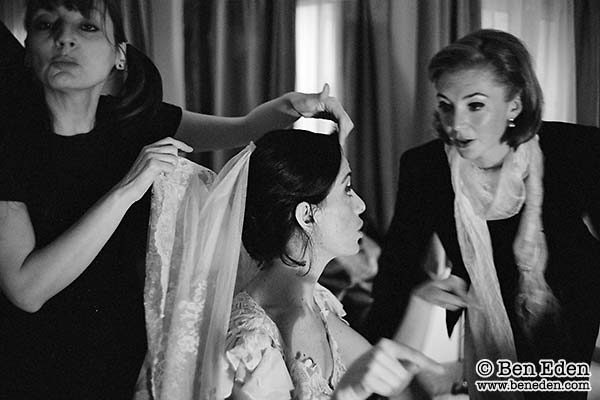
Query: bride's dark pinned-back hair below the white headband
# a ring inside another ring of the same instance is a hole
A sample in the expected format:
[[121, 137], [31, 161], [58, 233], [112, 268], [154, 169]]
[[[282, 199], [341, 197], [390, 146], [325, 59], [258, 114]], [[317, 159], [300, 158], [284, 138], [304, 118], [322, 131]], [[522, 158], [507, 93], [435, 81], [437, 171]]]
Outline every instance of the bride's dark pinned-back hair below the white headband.
[[302, 256], [310, 246], [309, 236], [296, 221], [296, 206], [303, 201], [318, 205], [327, 197], [341, 160], [335, 134], [279, 130], [256, 141], [250, 156], [242, 241], [260, 265], [276, 258], [290, 266], [306, 264], [287, 249], [295, 232], [303, 239]]

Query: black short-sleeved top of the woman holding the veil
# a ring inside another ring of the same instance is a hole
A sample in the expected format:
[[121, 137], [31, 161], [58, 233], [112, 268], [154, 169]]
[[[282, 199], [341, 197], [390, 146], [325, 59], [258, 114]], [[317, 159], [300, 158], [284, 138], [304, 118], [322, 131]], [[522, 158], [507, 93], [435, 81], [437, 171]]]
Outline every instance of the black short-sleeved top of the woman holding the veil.
[[[0, 200], [23, 202], [36, 247], [53, 241], [129, 170], [141, 148], [173, 136], [181, 109], [118, 123], [102, 97], [96, 128], [60, 136], [39, 107], [7, 118]], [[146, 351], [143, 262], [149, 193], [134, 204], [91, 265], [35, 313], [0, 295], [0, 398], [130, 399]]]

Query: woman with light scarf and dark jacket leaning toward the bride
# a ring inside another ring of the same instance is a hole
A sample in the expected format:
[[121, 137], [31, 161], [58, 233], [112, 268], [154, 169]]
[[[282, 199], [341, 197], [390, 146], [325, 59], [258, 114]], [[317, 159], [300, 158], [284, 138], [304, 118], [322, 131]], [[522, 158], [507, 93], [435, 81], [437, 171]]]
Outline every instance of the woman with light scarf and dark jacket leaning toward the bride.
[[[475, 363], [591, 360], [600, 315], [600, 132], [541, 121], [529, 53], [506, 32], [459, 39], [432, 58], [429, 76], [440, 139], [400, 160], [368, 337], [394, 335], [411, 293], [446, 308], [449, 331], [464, 312], [471, 398], [519, 398], [482, 397], [472, 385], [482, 378]], [[453, 266], [443, 280], [420, 266], [434, 234]]]

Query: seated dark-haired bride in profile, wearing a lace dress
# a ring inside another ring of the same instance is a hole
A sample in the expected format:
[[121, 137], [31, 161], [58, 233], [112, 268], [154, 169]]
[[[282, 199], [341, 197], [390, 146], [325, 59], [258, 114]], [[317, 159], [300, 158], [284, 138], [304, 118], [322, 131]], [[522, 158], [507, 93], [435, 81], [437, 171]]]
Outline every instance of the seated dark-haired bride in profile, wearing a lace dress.
[[[289, 398], [290, 390], [298, 399], [331, 396], [344, 366], [368, 349], [343, 323], [341, 304], [317, 284], [331, 259], [358, 252], [364, 210], [334, 136], [271, 132], [256, 142], [242, 239], [259, 272], [233, 300], [226, 349], [232, 398], [258, 395], [261, 381], [260, 398]], [[241, 354], [248, 356], [238, 363]], [[263, 370], [278, 373], [269, 380]], [[289, 386], [277, 393], [282, 376]]]

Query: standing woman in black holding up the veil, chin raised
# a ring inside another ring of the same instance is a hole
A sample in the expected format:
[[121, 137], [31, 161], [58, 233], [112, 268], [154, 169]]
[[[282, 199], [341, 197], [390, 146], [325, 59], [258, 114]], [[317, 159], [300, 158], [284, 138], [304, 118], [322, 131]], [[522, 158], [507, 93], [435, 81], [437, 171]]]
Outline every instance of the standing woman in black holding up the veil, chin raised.
[[[117, 0], [28, 2], [36, 92], [3, 121], [0, 397], [128, 399], [146, 350], [139, 271], [147, 189], [179, 151], [235, 147], [340, 104], [289, 93], [240, 118], [162, 102], [160, 75], [126, 45]], [[101, 96], [109, 80], [116, 96]]]

